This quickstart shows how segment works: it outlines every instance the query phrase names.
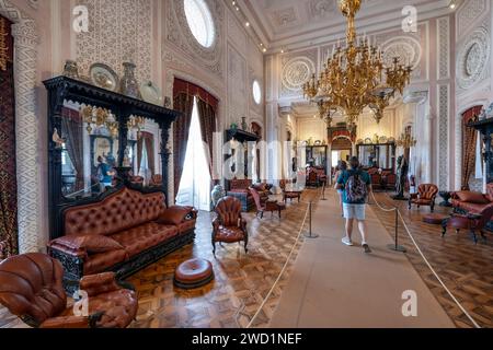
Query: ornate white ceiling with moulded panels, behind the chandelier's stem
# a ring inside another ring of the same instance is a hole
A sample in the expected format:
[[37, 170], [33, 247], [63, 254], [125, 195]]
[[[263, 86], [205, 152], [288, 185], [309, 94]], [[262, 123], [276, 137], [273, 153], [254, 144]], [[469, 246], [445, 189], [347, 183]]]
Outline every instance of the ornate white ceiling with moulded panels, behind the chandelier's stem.
[[[271, 49], [317, 45], [343, 38], [345, 19], [337, 0], [240, 0], [239, 5]], [[358, 31], [400, 25], [402, 9], [414, 5], [419, 21], [450, 11], [450, 0], [363, 0]]]

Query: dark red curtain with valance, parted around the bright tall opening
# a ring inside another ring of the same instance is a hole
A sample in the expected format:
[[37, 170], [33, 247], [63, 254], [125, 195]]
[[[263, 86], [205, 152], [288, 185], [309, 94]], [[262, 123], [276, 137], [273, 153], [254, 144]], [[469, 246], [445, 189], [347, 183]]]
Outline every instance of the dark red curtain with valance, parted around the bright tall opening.
[[[200, 86], [181, 79], [175, 79], [173, 85], [174, 109], [183, 114], [183, 116], [174, 124], [173, 158], [175, 197], [180, 189], [183, 166], [185, 164], [194, 97], [198, 98], [198, 113], [200, 116], [203, 140], [209, 145], [209, 152], [210, 155], [213, 155], [213, 136], [216, 130], [216, 113], [219, 101]], [[211, 158], [209, 158], [209, 165], [213, 166]]]

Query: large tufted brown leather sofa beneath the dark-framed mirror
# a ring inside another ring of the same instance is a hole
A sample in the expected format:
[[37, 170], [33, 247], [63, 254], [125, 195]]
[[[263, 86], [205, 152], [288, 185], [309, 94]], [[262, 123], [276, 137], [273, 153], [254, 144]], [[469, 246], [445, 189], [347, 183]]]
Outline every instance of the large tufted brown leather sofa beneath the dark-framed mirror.
[[101, 202], [64, 212], [65, 236], [48, 244], [66, 278], [117, 271], [126, 277], [195, 237], [197, 211], [167, 208], [162, 192], [123, 188]]

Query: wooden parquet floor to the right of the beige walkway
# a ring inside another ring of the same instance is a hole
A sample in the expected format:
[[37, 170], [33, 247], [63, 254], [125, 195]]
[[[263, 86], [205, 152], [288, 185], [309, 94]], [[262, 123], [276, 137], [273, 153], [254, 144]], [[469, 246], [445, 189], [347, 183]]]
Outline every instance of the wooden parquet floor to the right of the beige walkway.
[[[422, 221], [422, 215], [429, 213], [429, 208], [414, 207], [409, 211], [406, 202], [394, 201], [387, 194], [376, 194], [376, 199], [387, 208], [399, 207], [417, 245], [445, 285], [481, 327], [493, 327], [493, 236], [489, 234], [489, 241], [480, 241], [478, 245], [474, 245], [469, 232], [462, 231], [457, 235], [454, 230], [450, 230], [447, 236], [442, 238], [440, 226]], [[372, 209], [389, 234], [393, 236], [394, 213], [383, 212], [375, 205]], [[451, 209], [437, 207], [436, 211], [449, 213]], [[456, 326], [473, 327], [431, 272], [402, 223], [400, 223], [399, 236], [400, 244], [408, 249], [409, 260]]]

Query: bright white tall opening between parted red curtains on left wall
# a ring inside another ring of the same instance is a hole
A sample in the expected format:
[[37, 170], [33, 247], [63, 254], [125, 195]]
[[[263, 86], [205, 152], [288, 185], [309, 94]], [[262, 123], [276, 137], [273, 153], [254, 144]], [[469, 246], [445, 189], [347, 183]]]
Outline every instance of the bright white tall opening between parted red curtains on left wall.
[[192, 206], [198, 210], [210, 211], [210, 184], [211, 176], [205, 144], [202, 140], [197, 98], [194, 97], [185, 164], [176, 196], [176, 205]]

